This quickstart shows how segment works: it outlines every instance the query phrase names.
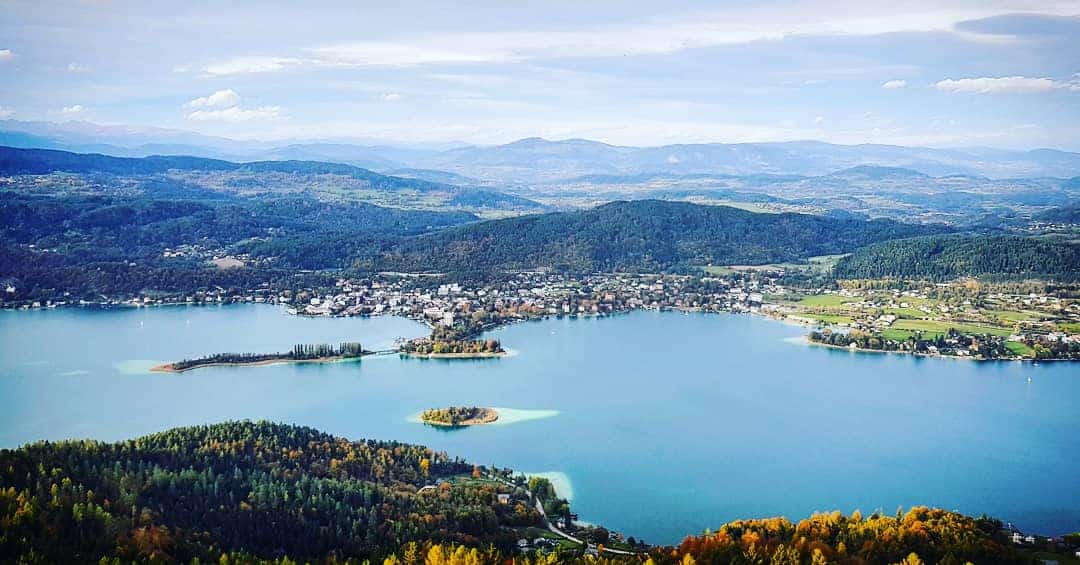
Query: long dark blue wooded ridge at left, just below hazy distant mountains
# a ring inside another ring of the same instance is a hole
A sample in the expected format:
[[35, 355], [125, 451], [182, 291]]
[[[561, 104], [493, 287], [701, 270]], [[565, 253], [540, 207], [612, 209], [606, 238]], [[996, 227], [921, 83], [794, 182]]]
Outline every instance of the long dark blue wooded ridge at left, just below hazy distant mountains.
[[201, 157], [152, 156], [130, 158], [110, 157], [98, 153], [72, 153], [54, 149], [0, 147], [0, 174], [5, 175], [43, 175], [57, 172], [152, 175], [168, 171], [339, 175], [364, 180], [373, 188], [381, 190], [411, 189], [427, 191], [454, 188], [441, 183], [380, 175], [359, 166], [320, 161], [255, 161], [251, 163], [234, 163]]

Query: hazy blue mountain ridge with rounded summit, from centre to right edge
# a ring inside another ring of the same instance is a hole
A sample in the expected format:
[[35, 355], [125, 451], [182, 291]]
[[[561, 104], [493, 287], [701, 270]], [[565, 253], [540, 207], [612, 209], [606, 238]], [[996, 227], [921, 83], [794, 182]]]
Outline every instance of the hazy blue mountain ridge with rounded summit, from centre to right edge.
[[909, 169], [934, 176], [1067, 177], [1080, 172], [1080, 153], [1051, 149], [1012, 151], [846, 146], [821, 142], [620, 147], [586, 139], [551, 142], [528, 138], [494, 147], [443, 151], [414, 162], [414, 166], [513, 181], [643, 173], [820, 176], [860, 165]]

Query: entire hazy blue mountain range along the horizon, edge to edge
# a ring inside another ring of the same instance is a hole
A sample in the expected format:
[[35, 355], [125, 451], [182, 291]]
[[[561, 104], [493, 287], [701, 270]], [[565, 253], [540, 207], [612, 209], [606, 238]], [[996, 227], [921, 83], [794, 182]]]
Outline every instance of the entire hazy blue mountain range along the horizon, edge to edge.
[[154, 127], [87, 122], [0, 120], [0, 145], [100, 152], [122, 157], [190, 154], [227, 160], [313, 160], [388, 172], [436, 170], [487, 183], [534, 184], [582, 175], [824, 175], [859, 165], [922, 174], [990, 178], [1072, 177], [1080, 153], [1056, 149], [928, 148], [823, 142], [708, 143], [627, 147], [590, 139], [539, 137], [496, 146], [410, 144], [376, 139], [234, 140]]

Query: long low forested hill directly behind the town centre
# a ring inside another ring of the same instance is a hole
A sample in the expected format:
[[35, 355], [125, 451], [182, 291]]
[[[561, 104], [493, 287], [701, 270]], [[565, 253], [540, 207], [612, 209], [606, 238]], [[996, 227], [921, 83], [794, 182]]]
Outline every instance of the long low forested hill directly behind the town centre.
[[406, 240], [381, 260], [387, 268], [408, 270], [656, 271], [847, 253], [868, 243], [946, 230], [638, 200], [451, 228]]

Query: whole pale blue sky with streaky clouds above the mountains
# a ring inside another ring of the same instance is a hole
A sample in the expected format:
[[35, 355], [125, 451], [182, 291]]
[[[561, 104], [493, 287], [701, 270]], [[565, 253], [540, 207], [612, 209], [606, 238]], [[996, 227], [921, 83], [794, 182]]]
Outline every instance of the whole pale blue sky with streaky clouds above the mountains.
[[1080, 150], [1080, 0], [0, 0], [0, 118]]

